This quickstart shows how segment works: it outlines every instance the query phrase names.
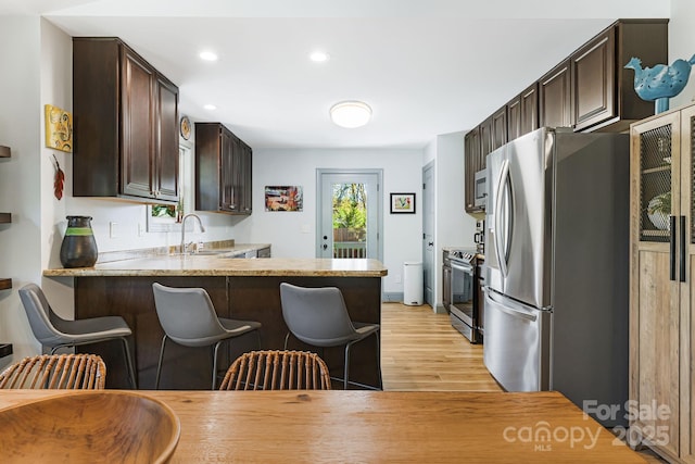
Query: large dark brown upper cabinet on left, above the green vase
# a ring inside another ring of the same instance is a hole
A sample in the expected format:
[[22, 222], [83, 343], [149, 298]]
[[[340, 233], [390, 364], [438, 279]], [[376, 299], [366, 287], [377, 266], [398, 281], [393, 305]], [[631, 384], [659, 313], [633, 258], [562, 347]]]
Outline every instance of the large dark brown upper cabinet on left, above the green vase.
[[176, 203], [178, 88], [117, 38], [73, 38], [75, 197]]

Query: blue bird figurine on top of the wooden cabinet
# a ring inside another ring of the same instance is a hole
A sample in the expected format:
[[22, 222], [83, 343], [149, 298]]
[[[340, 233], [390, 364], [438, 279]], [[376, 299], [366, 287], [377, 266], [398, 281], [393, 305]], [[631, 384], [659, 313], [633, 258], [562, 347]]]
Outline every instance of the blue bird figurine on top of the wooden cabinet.
[[642, 68], [642, 61], [639, 58], [632, 58], [624, 67], [634, 70], [634, 91], [637, 96], [642, 100], [656, 101], [657, 113], [659, 113], [659, 109], [668, 110], [668, 98], [675, 97], [683, 90], [694, 64], [695, 54], [688, 61], [675, 60], [670, 66], [657, 64], [645, 68]]

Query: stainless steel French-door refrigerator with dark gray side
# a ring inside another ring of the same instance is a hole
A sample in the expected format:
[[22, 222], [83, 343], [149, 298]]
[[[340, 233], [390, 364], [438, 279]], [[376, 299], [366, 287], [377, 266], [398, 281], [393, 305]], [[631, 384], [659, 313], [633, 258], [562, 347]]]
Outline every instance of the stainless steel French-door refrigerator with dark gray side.
[[[488, 155], [484, 363], [508, 391], [628, 400], [629, 136], [541, 128]], [[605, 411], [605, 410], [602, 410]]]

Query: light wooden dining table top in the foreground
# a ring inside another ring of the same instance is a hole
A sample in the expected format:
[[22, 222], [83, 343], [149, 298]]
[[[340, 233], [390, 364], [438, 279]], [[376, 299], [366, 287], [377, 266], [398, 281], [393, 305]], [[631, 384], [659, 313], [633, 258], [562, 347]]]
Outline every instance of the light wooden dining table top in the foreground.
[[[138, 393], [180, 419], [172, 463], [645, 462], [558, 392]], [[61, 394], [0, 390], [0, 410]]]

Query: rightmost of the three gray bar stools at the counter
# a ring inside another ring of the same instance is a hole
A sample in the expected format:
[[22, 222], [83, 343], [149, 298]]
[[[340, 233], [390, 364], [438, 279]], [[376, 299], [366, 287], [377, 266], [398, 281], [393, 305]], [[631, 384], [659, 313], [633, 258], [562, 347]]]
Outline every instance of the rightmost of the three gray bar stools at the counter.
[[[314, 347], [345, 346], [343, 388], [348, 389], [350, 371], [350, 348], [365, 338], [377, 337], [377, 367], [381, 376], [379, 350], [379, 324], [353, 322], [348, 314], [343, 294], [337, 287], [305, 288], [291, 284], [280, 284], [282, 317], [290, 329], [285, 336], [285, 349], [292, 334], [298, 339]], [[355, 383], [352, 383], [355, 384]], [[361, 385], [361, 387], [374, 388]]]

